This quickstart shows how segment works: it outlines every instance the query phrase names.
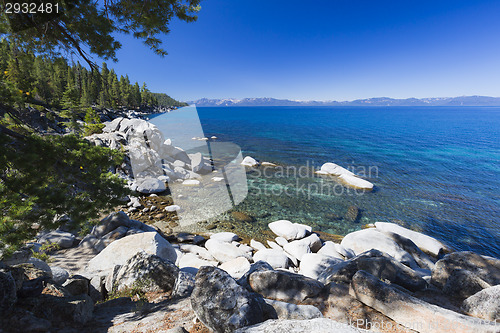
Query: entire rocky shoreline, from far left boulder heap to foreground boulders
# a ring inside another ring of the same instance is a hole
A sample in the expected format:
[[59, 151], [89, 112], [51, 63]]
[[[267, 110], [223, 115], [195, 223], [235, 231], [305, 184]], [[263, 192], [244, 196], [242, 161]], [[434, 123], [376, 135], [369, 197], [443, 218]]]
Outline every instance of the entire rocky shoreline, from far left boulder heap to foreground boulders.
[[87, 139], [127, 154], [114, 172], [137, 195], [81, 237], [62, 223], [0, 262], [0, 332], [500, 332], [499, 259], [386, 222], [343, 238], [287, 220], [258, 235], [182, 226], [169, 184], [213, 188], [214, 161], [145, 120], [109, 120]]

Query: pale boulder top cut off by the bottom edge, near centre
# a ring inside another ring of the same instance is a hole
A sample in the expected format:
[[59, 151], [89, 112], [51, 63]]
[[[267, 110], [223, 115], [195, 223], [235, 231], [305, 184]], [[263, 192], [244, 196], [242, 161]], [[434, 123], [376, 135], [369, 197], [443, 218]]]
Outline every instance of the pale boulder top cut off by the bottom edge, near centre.
[[309, 320], [267, 320], [264, 323], [241, 328], [235, 333], [362, 333], [370, 332], [327, 318]]

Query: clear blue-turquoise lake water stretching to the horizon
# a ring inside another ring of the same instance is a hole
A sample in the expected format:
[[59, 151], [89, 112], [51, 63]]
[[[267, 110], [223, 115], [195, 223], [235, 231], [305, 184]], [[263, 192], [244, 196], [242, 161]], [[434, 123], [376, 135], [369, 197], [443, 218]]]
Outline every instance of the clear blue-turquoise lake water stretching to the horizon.
[[[375, 185], [356, 195], [310, 172], [251, 172], [237, 210], [258, 223], [283, 218], [346, 234], [393, 221], [500, 257], [500, 108], [207, 107], [198, 115], [206, 136], [260, 161], [296, 169], [334, 162]], [[350, 206], [359, 208], [356, 221]]]

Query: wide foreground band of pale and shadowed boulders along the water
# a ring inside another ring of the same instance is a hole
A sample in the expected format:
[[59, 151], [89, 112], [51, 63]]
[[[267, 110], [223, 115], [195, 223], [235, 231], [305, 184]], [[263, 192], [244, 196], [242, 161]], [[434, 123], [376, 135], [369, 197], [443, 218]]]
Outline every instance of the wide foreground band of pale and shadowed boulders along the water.
[[[11, 321], [23, 318], [46, 328], [63, 314], [84, 325], [92, 317], [93, 302], [140, 288], [190, 297], [196, 316], [215, 332], [285, 331], [290, 325], [295, 331], [336, 327], [359, 332], [347, 325], [346, 317], [338, 317], [340, 306], [335, 307], [343, 293], [351, 304], [418, 332], [500, 329], [494, 323], [500, 314], [498, 259], [472, 252], [446, 254], [450, 250], [441, 242], [392, 223], [377, 222], [339, 244], [286, 220], [269, 228], [277, 237], [267, 246], [255, 240], [241, 243], [231, 232], [208, 239], [186, 233], [165, 236], [118, 212], [82, 240], [51, 232], [39, 241], [91, 249], [95, 256], [73, 276], [33, 258], [2, 269], [1, 313], [14, 307]], [[44, 287], [58, 296], [39, 295]], [[57, 310], [47, 315], [42, 309], [49, 305]], [[292, 324], [297, 320], [301, 322]]]

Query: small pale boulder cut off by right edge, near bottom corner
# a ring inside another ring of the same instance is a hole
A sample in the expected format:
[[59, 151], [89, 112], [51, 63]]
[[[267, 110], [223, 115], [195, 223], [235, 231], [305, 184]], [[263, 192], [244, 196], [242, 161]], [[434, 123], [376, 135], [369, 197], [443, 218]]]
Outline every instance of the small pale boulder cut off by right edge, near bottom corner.
[[500, 319], [500, 285], [470, 296], [463, 302], [462, 309], [465, 313], [484, 320]]

